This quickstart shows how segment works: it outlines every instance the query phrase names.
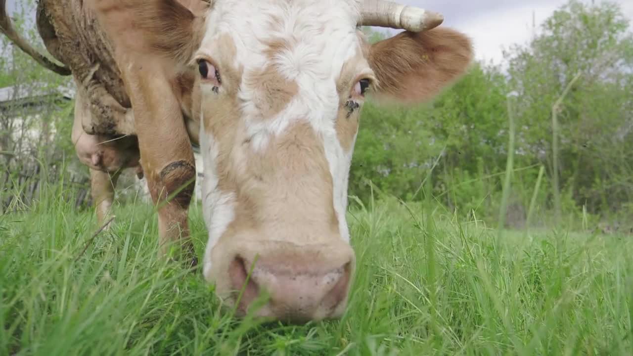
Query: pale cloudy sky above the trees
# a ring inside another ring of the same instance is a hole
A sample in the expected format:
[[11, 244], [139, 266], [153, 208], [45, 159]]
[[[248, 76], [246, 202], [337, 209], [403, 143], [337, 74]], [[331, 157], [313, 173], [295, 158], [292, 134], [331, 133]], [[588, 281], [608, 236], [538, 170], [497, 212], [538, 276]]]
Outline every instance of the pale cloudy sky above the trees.
[[[23, 0], [8, 0], [9, 12]], [[32, 0], [31, 0], [32, 1]], [[501, 63], [502, 46], [523, 44], [532, 35], [532, 15], [537, 27], [566, 0], [398, 0], [440, 12], [444, 25], [470, 35], [480, 60]], [[591, 1], [591, 0], [585, 0]], [[633, 19], [633, 0], [614, 0]], [[599, 0], [596, 0], [599, 3]], [[35, 15], [33, 15], [35, 16]]]

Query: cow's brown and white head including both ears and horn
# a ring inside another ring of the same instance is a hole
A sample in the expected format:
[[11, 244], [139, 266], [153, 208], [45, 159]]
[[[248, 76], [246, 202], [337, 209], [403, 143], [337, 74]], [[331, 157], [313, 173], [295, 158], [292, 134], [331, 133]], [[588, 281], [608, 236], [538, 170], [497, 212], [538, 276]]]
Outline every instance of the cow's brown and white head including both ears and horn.
[[[212, 0], [202, 17], [172, 1], [144, 6], [136, 21], [151, 29], [149, 48], [197, 72], [204, 277], [230, 303], [246, 285], [242, 312], [265, 290], [259, 315], [340, 316], [363, 103], [431, 98], [465, 72], [470, 41], [437, 27], [436, 13], [380, 0]], [[360, 25], [407, 31], [369, 44]]]

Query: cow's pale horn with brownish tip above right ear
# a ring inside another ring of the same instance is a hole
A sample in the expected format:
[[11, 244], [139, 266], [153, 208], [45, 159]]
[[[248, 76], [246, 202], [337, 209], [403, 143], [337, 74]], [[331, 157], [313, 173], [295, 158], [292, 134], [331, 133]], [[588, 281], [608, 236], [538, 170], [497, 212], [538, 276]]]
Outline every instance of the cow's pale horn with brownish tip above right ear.
[[413, 6], [386, 0], [359, 0], [361, 20], [358, 25], [391, 27], [411, 32], [433, 29], [444, 21], [444, 16]]

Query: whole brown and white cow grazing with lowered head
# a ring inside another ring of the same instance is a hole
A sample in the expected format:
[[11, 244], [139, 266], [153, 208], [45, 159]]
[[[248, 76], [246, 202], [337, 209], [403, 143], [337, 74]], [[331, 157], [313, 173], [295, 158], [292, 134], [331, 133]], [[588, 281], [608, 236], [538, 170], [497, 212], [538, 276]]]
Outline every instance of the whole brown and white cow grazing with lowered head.
[[[194, 259], [199, 144], [205, 279], [241, 314], [265, 291], [258, 315], [304, 322], [346, 308], [348, 175], [366, 96], [429, 100], [472, 59], [469, 39], [441, 22], [382, 0], [42, 0], [39, 31], [66, 67], [20, 47], [75, 79], [73, 140], [101, 221], [116, 172], [142, 167], [155, 204], [174, 195], [158, 210], [161, 243]], [[405, 31], [369, 44], [361, 25]]]

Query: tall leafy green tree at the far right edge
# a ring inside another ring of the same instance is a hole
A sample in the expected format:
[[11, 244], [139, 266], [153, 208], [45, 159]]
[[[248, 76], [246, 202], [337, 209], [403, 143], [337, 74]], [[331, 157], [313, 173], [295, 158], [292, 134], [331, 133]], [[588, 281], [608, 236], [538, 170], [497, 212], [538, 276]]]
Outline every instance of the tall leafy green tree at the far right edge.
[[[520, 149], [552, 176], [560, 160], [561, 190], [591, 212], [617, 210], [633, 198], [630, 93], [633, 35], [616, 3], [570, 0], [544, 22], [527, 46], [506, 53], [510, 85], [520, 93]], [[572, 78], [552, 132], [552, 105]], [[553, 135], [560, 151], [553, 152]], [[615, 139], [617, 138], [617, 139]]]

